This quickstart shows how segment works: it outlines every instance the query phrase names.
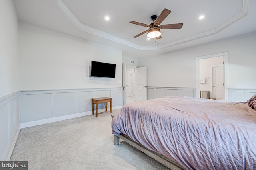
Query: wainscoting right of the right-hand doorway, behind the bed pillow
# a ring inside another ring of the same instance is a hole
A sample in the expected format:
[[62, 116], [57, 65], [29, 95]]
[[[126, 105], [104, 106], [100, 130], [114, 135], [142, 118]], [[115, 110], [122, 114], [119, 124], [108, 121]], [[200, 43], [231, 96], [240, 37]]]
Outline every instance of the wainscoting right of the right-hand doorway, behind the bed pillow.
[[256, 94], [256, 89], [228, 89], [228, 100], [246, 102], [254, 94]]

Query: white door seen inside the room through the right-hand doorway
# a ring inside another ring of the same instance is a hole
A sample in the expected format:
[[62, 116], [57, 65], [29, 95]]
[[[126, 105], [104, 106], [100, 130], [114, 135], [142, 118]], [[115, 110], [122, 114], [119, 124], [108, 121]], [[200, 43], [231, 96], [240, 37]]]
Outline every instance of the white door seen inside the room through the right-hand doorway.
[[224, 69], [223, 65], [212, 66], [212, 96], [224, 100]]

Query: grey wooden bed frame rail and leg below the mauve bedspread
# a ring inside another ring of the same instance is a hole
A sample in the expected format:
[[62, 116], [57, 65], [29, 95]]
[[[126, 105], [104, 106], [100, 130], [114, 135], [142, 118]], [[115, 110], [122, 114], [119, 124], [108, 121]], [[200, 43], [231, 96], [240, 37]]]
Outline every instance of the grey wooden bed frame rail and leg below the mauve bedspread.
[[137, 143], [137, 142], [133, 141], [130, 137], [128, 137], [127, 135], [124, 135], [122, 133], [120, 135], [118, 135], [118, 136], [114, 135], [114, 144], [115, 145], [119, 145], [119, 143], [120, 143], [119, 142], [119, 138], [123, 139], [124, 141], [126, 141], [127, 143], [129, 143], [130, 145], [135, 147], [136, 149], [142, 151], [143, 153], [147, 154], [148, 156], [150, 156], [151, 158], [153, 158], [156, 161], [160, 162], [161, 164], [167, 166], [171, 170], [186, 170], [180, 164], [170, 160], [169, 158], [167, 158], [164, 155], [158, 154], [158, 153], [156, 153], [156, 152], [154, 152], [152, 150], [147, 149], [146, 147], [144, 147], [140, 143]]

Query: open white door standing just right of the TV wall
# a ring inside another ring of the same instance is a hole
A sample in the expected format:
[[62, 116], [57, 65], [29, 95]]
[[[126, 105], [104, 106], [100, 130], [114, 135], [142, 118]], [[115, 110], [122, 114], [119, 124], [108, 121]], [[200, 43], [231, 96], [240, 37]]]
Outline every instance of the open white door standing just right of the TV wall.
[[136, 68], [136, 102], [147, 100], [147, 67]]

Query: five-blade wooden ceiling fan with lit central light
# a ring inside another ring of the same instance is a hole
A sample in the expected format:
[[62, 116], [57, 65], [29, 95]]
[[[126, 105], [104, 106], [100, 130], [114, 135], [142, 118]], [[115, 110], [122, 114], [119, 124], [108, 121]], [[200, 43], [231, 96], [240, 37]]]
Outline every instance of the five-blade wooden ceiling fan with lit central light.
[[144, 24], [144, 23], [135, 22], [135, 21], [130, 21], [130, 23], [132, 23], [132, 24], [140, 25], [140, 26], [143, 26], [143, 27], [149, 27], [148, 30], [143, 31], [142, 33], [139, 33], [138, 35], [135, 35], [134, 38], [137, 38], [140, 35], [143, 35], [144, 33], [147, 32], [147, 37], [160, 39], [160, 38], [162, 38], [160, 29], [180, 29], [180, 28], [182, 28], [183, 23], [174, 23], [174, 24], [160, 25], [162, 23], [162, 21], [164, 21], [164, 19], [170, 13], [171, 13], [170, 10], [164, 9], [158, 17], [156, 15], [152, 15], [151, 16], [151, 20], [153, 22], [150, 25], [147, 25], [147, 24]]

